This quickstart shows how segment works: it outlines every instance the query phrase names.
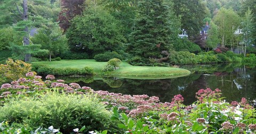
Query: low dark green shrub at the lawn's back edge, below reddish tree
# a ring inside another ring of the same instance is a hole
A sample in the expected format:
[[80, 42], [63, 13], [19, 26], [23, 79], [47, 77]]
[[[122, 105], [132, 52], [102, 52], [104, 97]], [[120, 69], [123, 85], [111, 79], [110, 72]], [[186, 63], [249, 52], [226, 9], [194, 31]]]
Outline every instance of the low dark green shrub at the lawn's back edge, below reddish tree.
[[81, 60], [81, 59], [88, 59], [89, 55], [87, 53], [76, 53], [67, 51], [60, 55], [61, 59], [65, 60]]

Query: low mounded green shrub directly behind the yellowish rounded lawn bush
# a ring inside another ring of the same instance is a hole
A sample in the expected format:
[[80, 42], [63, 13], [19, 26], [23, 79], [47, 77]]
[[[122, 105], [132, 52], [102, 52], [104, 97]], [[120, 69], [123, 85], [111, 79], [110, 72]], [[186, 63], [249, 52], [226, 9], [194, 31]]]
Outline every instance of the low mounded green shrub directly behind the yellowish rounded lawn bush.
[[106, 53], [97, 54], [94, 56], [94, 60], [98, 62], [107, 62], [111, 58], [119, 58], [120, 60], [123, 60], [122, 56], [116, 52], [106, 52]]

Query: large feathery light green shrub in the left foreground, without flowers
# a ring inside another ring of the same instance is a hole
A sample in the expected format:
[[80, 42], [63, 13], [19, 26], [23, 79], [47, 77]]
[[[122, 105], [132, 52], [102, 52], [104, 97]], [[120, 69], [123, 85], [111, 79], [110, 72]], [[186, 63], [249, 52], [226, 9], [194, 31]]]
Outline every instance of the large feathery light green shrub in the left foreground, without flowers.
[[70, 133], [75, 128], [85, 131], [106, 130], [110, 125], [110, 112], [94, 96], [48, 93], [40, 98], [11, 100], [0, 107], [0, 120], [28, 125], [31, 128], [60, 128]]

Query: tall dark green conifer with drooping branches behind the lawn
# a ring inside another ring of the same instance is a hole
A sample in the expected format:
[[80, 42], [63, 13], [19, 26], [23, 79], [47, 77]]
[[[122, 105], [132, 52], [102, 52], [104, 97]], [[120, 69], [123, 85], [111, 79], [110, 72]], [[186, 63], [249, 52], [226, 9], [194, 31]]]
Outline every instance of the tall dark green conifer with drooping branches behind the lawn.
[[128, 51], [145, 58], [163, 57], [162, 51], [169, 51], [178, 36], [177, 22], [163, 0], [139, 2]]

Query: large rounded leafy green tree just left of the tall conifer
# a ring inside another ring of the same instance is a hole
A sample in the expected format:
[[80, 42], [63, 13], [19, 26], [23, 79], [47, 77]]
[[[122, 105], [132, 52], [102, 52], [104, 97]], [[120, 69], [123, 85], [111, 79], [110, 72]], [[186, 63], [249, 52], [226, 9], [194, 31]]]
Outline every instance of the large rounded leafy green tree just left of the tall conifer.
[[70, 50], [95, 55], [122, 49], [125, 38], [117, 23], [113, 16], [99, 6], [87, 9], [73, 19], [67, 31]]

